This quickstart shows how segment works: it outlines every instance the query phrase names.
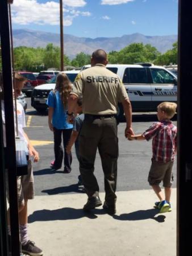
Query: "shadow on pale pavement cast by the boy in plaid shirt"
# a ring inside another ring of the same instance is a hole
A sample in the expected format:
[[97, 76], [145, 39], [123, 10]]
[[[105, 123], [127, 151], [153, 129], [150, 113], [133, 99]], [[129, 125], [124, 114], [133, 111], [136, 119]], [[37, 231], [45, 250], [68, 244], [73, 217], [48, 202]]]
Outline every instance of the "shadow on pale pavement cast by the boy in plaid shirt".
[[122, 220], [122, 221], [137, 221], [137, 220], [147, 220], [148, 218], [152, 218], [152, 220], [156, 220], [157, 222], [164, 222], [165, 216], [158, 215], [158, 209], [148, 209], [148, 210], [136, 210], [136, 212], [131, 213], [123, 213], [118, 215], [112, 216], [115, 220]]

